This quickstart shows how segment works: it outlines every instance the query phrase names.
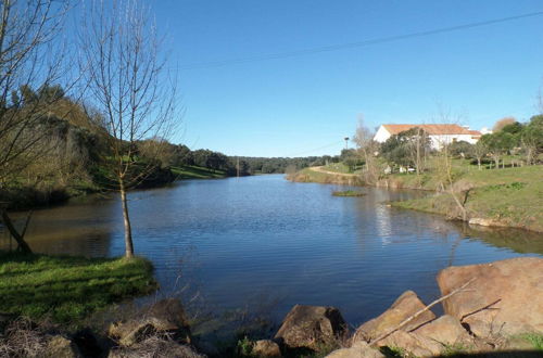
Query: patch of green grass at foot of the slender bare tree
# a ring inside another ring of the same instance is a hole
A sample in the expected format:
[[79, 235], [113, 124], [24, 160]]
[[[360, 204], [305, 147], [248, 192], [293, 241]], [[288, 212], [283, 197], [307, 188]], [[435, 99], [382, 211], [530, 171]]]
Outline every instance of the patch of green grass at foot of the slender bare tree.
[[76, 323], [113, 303], [156, 290], [144, 258], [0, 254], [0, 311]]

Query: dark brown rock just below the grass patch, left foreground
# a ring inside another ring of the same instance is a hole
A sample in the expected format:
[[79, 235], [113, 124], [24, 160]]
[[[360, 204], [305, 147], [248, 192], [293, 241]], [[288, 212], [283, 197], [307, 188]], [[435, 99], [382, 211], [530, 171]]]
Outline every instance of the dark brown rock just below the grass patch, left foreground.
[[111, 324], [108, 333], [125, 347], [155, 334], [186, 344], [191, 341], [185, 311], [180, 303], [173, 298], [154, 304], [140, 319]]

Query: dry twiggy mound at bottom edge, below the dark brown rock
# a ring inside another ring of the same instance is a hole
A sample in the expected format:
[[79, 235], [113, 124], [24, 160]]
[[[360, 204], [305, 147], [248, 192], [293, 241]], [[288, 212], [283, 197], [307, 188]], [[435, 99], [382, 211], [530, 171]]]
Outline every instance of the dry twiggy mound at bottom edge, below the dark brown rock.
[[174, 341], [164, 341], [151, 337], [130, 347], [116, 347], [110, 350], [109, 358], [200, 358], [205, 357], [198, 354], [191, 347], [178, 344]]

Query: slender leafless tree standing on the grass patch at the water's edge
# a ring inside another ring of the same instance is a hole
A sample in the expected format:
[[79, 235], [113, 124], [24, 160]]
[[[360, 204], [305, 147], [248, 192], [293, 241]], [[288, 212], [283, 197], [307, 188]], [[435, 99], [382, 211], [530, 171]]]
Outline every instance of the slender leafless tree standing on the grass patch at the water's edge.
[[137, 1], [92, 1], [85, 11], [80, 46], [90, 101], [108, 132], [110, 174], [121, 192], [125, 256], [134, 256], [127, 190], [153, 166], [137, 143], [153, 139], [156, 153], [173, 132], [176, 85], [168, 77], [154, 24]]

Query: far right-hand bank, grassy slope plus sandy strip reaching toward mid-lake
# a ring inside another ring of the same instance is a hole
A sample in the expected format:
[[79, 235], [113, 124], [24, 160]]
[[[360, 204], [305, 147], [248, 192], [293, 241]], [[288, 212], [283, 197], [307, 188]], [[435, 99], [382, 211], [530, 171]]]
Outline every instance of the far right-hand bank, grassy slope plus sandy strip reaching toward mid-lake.
[[[375, 187], [432, 191], [427, 197], [393, 202], [392, 206], [444, 215], [473, 225], [509, 227], [543, 232], [543, 166], [525, 166], [478, 170], [457, 166], [453, 193], [440, 188], [432, 171], [393, 174], [380, 179]], [[299, 182], [366, 184], [352, 174], [328, 172], [321, 167], [305, 168], [287, 179]], [[464, 216], [466, 210], [466, 216]]]

